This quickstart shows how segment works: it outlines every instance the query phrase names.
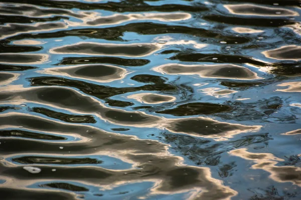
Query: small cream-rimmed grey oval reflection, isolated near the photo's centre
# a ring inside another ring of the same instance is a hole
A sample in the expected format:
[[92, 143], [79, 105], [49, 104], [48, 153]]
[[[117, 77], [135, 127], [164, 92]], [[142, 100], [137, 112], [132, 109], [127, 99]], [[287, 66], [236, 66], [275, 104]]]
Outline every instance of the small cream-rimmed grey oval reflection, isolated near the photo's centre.
[[158, 104], [175, 101], [177, 98], [170, 95], [162, 95], [156, 93], [137, 93], [128, 95], [127, 98], [135, 99], [142, 103]]

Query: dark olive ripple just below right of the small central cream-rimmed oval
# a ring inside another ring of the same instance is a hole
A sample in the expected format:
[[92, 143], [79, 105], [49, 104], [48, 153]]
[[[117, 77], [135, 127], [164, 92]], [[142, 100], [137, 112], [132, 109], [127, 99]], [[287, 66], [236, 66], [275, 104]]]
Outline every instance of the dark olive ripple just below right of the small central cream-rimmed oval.
[[231, 107], [228, 105], [192, 102], [192, 103], [178, 105], [177, 107], [172, 109], [165, 109], [156, 112], [162, 114], [172, 114], [175, 116], [186, 116], [186, 115], [198, 115], [198, 114], [213, 114], [213, 113], [224, 112], [229, 110], [231, 110]]

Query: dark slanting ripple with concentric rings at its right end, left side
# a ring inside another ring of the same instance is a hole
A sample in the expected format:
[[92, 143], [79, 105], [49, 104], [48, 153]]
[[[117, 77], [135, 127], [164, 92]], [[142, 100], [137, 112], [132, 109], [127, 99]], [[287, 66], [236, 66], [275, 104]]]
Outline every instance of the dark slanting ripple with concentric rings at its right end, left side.
[[32, 111], [70, 123], [96, 123], [96, 120], [91, 115], [67, 114], [43, 107], [33, 107]]

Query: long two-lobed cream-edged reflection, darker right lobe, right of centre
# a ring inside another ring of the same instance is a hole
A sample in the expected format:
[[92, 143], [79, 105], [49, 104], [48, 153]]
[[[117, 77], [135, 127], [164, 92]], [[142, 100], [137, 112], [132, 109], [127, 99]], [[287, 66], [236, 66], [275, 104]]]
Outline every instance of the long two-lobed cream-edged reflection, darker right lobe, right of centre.
[[167, 74], [199, 75], [200, 77], [232, 78], [232, 79], [258, 79], [257, 74], [250, 69], [234, 64], [164, 64], [153, 70]]

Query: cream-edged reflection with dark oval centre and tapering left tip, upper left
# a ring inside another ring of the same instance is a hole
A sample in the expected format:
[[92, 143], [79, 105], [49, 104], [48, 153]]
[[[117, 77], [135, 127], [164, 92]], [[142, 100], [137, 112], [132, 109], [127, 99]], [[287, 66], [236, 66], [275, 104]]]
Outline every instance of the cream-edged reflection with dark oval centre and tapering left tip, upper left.
[[120, 80], [123, 79], [126, 75], [125, 69], [108, 64], [52, 67], [45, 68], [37, 72], [93, 80], [96, 82], [110, 82], [113, 80]]

